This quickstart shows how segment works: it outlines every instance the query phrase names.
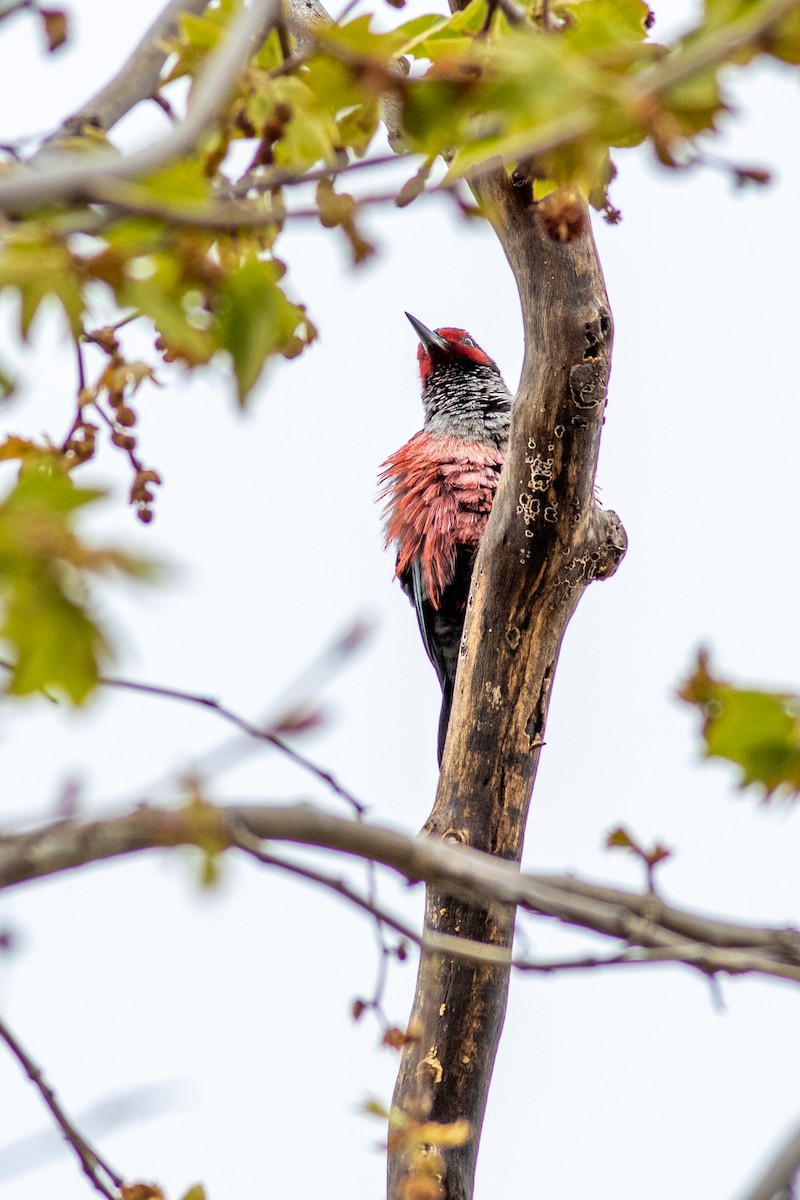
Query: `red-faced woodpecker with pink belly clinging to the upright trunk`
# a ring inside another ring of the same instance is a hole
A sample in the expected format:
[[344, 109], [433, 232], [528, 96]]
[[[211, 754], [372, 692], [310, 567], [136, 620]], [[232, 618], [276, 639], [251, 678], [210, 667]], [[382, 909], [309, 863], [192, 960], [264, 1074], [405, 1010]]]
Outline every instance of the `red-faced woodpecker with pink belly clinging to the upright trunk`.
[[438, 756], [447, 737], [467, 598], [509, 444], [511, 392], [463, 329], [428, 329], [405, 313], [420, 340], [425, 420], [381, 466], [386, 546], [416, 610], [441, 685]]

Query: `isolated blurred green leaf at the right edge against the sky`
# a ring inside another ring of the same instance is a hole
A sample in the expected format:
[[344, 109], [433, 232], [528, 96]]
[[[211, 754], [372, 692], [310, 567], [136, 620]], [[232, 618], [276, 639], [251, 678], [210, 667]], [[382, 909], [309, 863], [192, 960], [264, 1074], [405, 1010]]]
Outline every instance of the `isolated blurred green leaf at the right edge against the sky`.
[[800, 792], [800, 696], [735, 688], [715, 678], [705, 653], [679, 695], [703, 714], [705, 754], [736, 763], [741, 787], [765, 799]]

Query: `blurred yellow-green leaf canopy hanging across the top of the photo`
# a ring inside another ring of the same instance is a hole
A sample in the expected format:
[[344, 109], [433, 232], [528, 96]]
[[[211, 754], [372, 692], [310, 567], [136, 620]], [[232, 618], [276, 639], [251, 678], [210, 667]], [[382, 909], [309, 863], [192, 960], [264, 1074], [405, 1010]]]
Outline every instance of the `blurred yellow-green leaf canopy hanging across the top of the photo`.
[[[180, 18], [160, 85], [168, 109], [172, 85], [198, 78], [239, 7], [212, 0]], [[368, 14], [321, 24], [302, 52], [273, 29], [188, 158], [150, 178], [101, 178], [97, 196], [88, 188], [94, 204], [11, 214], [0, 289], [18, 296], [20, 335], [46, 296], [76, 340], [110, 299], [152, 323], [168, 361], [227, 362], [243, 404], [270, 358], [293, 358], [315, 336], [276, 253], [287, 222], [315, 216], [341, 230], [356, 264], [373, 253], [361, 229], [371, 198], [343, 192], [338, 176], [369, 155], [386, 106], [399, 114], [392, 144], [417, 161], [374, 199], [404, 206], [444, 188], [464, 210], [464, 174], [500, 158], [531, 181], [534, 205], [560, 191], [572, 204], [578, 190], [614, 220], [615, 148], [648, 143], [667, 167], [685, 168], [728, 112], [732, 65], [800, 62], [800, 0], [706, 0], [700, 22], [668, 46], [651, 41], [652, 20], [644, 0], [471, 0], [391, 30]], [[100, 143], [108, 149], [88, 127], [61, 146]], [[444, 178], [433, 173], [439, 157]], [[740, 182], [769, 178], [730, 169]], [[293, 208], [291, 190], [306, 181], [311, 208]], [[547, 228], [571, 236], [553, 208]]]

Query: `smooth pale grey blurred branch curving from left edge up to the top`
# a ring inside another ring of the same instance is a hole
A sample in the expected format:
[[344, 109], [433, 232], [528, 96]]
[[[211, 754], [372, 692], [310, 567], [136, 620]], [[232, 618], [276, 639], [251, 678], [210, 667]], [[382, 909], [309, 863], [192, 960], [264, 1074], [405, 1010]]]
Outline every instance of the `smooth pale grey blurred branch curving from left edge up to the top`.
[[266, 22], [279, 18], [279, 0], [253, 0], [240, 13], [192, 89], [185, 119], [163, 138], [124, 157], [109, 151], [80, 156], [64, 152], [58, 162], [48, 155], [52, 164], [41, 170], [5, 172], [0, 181], [0, 209], [79, 200], [101, 180], [136, 179], [191, 154], [233, 91], [251, 56], [255, 34]]

